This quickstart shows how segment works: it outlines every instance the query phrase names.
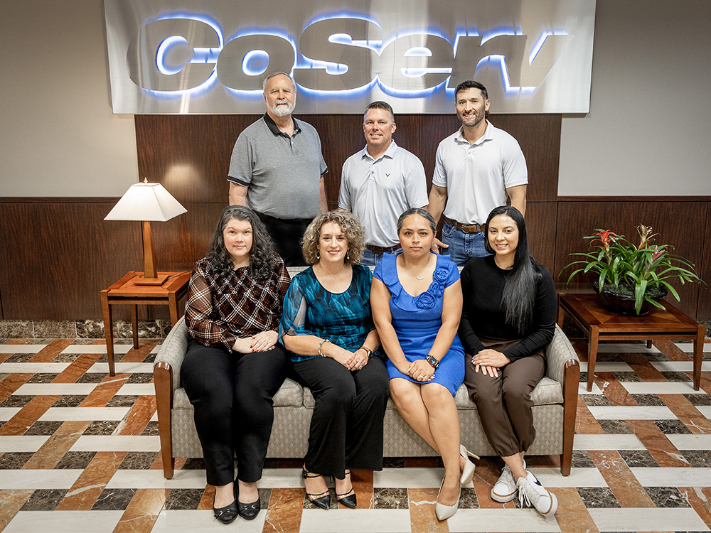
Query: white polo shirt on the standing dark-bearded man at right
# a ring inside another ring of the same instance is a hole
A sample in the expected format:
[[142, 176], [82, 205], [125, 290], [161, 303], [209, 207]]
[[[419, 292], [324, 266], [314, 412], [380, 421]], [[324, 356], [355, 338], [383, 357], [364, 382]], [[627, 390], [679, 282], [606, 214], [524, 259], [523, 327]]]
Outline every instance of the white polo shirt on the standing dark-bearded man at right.
[[447, 187], [444, 216], [462, 224], [483, 224], [489, 212], [506, 204], [506, 189], [528, 183], [528, 168], [518, 141], [486, 121], [474, 144], [462, 128], [437, 146], [432, 185]]

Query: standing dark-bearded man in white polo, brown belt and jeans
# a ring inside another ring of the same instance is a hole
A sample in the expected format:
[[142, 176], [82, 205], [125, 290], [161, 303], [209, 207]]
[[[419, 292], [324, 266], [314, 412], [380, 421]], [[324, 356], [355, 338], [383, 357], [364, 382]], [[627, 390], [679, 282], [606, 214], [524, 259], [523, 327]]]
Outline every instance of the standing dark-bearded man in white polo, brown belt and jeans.
[[454, 109], [461, 128], [437, 147], [428, 210], [437, 222], [444, 211], [442, 242], [434, 244], [464, 266], [471, 257], [488, 255], [484, 224], [507, 196], [525, 214], [528, 168], [518, 141], [488, 122], [488, 93], [481, 83], [461, 82]]

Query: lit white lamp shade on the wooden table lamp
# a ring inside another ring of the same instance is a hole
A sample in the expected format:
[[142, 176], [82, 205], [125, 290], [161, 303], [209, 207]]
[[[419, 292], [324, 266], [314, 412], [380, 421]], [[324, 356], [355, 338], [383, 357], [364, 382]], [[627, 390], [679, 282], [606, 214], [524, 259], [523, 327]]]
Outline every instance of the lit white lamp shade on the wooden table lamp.
[[188, 212], [160, 183], [134, 183], [104, 220], [165, 222]]

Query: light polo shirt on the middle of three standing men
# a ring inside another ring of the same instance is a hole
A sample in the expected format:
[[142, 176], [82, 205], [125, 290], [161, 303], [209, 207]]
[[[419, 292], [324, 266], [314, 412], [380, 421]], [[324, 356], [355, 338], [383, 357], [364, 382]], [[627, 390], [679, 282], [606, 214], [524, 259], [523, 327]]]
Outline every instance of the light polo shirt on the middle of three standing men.
[[378, 159], [373, 159], [365, 146], [343, 163], [338, 207], [350, 209], [363, 223], [365, 244], [380, 247], [400, 244], [397, 217], [427, 202], [422, 161], [395, 141]]

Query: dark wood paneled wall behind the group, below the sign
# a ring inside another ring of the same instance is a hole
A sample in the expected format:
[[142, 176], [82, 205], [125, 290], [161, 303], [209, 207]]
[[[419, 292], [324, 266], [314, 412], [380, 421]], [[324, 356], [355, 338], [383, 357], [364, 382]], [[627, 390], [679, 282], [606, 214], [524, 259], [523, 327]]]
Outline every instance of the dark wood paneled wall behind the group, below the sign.
[[[192, 269], [203, 257], [220, 211], [232, 146], [258, 115], [137, 115], [139, 176], [160, 181], [188, 210], [152, 225], [159, 270]], [[310, 115], [321, 135], [326, 195], [336, 208], [343, 161], [363, 148], [359, 115]], [[454, 114], [398, 115], [397, 144], [419, 156], [428, 186], [439, 141], [459, 127]], [[711, 284], [711, 198], [558, 198], [561, 116], [492, 115], [491, 122], [518, 139], [529, 171], [526, 220], [530, 249], [557, 276], [567, 254], [587, 245], [594, 228], [634, 237], [642, 222], [661, 242], [695, 262]], [[1, 318], [100, 318], [99, 291], [128, 270], [141, 269], [138, 222], [105, 222], [117, 198], [0, 198]], [[682, 216], [680, 216], [682, 215]], [[693, 232], [690, 232], [693, 229]], [[691, 235], [690, 235], [691, 234]], [[694, 238], [690, 238], [690, 236]], [[700, 240], [703, 239], [703, 240]], [[687, 285], [681, 308], [711, 318], [708, 291]], [[151, 318], [165, 318], [160, 308]], [[121, 313], [119, 313], [121, 316]], [[166, 315], [167, 316], [167, 315]]]

